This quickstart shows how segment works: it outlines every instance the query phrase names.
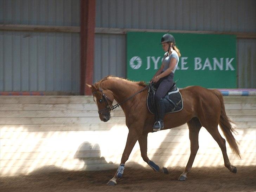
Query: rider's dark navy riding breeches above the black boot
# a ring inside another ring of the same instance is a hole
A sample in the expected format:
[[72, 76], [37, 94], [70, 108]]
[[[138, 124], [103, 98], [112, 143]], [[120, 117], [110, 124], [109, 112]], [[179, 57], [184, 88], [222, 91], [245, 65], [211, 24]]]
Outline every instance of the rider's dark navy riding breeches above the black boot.
[[158, 87], [155, 92], [155, 101], [156, 102], [158, 102], [161, 98], [164, 98], [164, 96], [167, 94], [167, 92], [171, 89], [171, 87], [173, 85], [173, 76], [174, 76], [174, 73], [171, 73], [170, 75], [161, 78], [156, 83], [156, 87]]

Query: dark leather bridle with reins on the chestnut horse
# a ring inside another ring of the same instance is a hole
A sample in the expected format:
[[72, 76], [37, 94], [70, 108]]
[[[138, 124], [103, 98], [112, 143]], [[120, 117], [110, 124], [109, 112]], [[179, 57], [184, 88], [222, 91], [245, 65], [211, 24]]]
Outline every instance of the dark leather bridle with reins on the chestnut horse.
[[[140, 91], [138, 91], [138, 92], [136, 92], [135, 94], [133, 94], [132, 96], [128, 97], [126, 100], [122, 101], [121, 103], [117, 103], [117, 104], [115, 104], [114, 106], [112, 105], [112, 107], [109, 106], [108, 101], [110, 101], [111, 103], [113, 103], [113, 101], [111, 101], [111, 100], [103, 93], [102, 89], [99, 88], [99, 91], [101, 92], [102, 98], [103, 98], [104, 103], [105, 103], [105, 108], [102, 109], [102, 110], [100, 110], [100, 111], [98, 111], [98, 113], [99, 113], [99, 114], [101, 113], [102, 115], [110, 115], [110, 111], [111, 111], [111, 110], [114, 110], [115, 108], [119, 107], [119, 105], [121, 105], [121, 104], [123, 104], [124, 102], [128, 101], [129, 99], [133, 98], [135, 95], [137, 95], [137, 94], [139, 94], [140, 92], [146, 90], [147, 88], [148, 88], [148, 85], [147, 85], [145, 88], [143, 88], [143, 89], [141, 89]], [[92, 92], [92, 95], [94, 95], [94, 94], [96, 94], [96, 93], [97, 93], [97, 92]], [[96, 104], [97, 104], [97, 103], [96, 103]], [[109, 110], [109, 109], [110, 109], [110, 110]], [[109, 110], [107, 114], [106, 114], [106, 113], [102, 113], [102, 112], [105, 111], [105, 110]]]

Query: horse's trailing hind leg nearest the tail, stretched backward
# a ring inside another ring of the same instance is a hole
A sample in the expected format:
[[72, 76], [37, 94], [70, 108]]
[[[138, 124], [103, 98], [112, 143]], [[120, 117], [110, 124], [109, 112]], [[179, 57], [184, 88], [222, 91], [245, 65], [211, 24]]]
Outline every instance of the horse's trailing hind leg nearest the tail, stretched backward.
[[220, 135], [219, 130], [218, 130], [218, 125], [212, 126], [212, 127], [205, 127], [205, 128], [211, 134], [213, 139], [218, 143], [218, 145], [222, 151], [225, 167], [228, 168], [229, 171], [236, 173], [236, 171], [237, 171], [236, 167], [232, 166], [230, 164], [229, 157], [228, 157], [227, 150], [226, 150], [226, 140]]

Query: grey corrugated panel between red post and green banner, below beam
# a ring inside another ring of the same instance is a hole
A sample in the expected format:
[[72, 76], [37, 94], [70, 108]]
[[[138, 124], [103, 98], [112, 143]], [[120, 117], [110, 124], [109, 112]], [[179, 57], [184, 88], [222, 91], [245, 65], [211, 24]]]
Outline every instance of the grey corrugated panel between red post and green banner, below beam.
[[125, 35], [95, 35], [93, 82], [107, 75], [126, 77], [125, 45]]

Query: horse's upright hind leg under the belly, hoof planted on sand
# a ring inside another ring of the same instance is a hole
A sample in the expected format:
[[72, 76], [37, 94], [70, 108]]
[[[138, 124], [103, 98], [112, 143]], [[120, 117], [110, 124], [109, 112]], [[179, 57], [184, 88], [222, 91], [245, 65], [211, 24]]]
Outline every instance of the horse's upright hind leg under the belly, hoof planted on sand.
[[187, 162], [187, 166], [184, 172], [180, 175], [179, 181], [187, 180], [187, 174], [190, 173], [191, 167], [193, 165], [194, 159], [196, 157], [199, 145], [198, 145], [198, 134], [201, 129], [201, 123], [197, 118], [193, 118], [187, 122], [189, 129], [189, 139], [190, 139], [190, 157]]

